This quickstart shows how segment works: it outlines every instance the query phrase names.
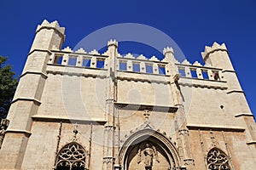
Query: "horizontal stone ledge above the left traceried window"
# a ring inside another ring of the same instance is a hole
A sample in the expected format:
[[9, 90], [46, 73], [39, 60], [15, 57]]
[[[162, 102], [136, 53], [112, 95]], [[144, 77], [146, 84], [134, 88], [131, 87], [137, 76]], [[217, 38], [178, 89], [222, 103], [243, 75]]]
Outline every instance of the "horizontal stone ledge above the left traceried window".
[[74, 119], [68, 117], [53, 117], [53, 116], [32, 116], [32, 120], [35, 122], [77, 122], [83, 124], [93, 124], [93, 125], [104, 125], [107, 121], [106, 120], [82, 120], [82, 119]]

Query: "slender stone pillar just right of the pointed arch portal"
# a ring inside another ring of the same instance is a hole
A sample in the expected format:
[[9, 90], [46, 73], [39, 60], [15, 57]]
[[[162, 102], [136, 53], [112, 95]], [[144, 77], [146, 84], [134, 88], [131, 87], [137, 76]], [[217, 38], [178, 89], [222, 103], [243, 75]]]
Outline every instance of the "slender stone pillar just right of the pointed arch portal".
[[[172, 48], [164, 48], [163, 51], [165, 60], [168, 62], [167, 72], [171, 79], [171, 90], [173, 103], [178, 110], [175, 115], [175, 133], [177, 136], [178, 151], [181, 158], [182, 167], [187, 167], [188, 170], [195, 169], [194, 160], [192, 159], [190, 144], [189, 144], [189, 130], [186, 129], [186, 116], [183, 107], [183, 100], [181, 91], [178, 85], [179, 73], [175, 65], [176, 59]], [[191, 163], [193, 162], [193, 163]]]

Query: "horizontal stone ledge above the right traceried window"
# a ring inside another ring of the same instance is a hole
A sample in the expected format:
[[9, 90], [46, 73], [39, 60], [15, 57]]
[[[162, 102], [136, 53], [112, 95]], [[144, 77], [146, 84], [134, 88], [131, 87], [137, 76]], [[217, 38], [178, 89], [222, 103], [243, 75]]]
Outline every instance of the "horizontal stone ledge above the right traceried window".
[[212, 126], [197, 126], [187, 125], [189, 130], [212, 130], [212, 131], [224, 131], [224, 132], [237, 132], [242, 133], [245, 131], [244, 127], [212, 127]]

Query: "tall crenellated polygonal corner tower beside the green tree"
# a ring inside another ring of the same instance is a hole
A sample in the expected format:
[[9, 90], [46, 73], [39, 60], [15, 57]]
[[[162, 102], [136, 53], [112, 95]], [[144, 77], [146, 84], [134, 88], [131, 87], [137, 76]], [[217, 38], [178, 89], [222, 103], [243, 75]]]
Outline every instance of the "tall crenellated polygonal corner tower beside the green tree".
[[46, 67], [51, 55], [49, 50], [54, 45], [61, 48], [65, 38], [64, 31], [65, 28], [60, 27], [57, 21], [49, 23], [44, 20], [37, 28], [36, 37], [9, 110], [10, 124], [0, 150], [0, 165], [6, 169], [21, 168], [26, 144], [31, 134], [31, 116], [37, 114], [44, 82], [47, 79]]

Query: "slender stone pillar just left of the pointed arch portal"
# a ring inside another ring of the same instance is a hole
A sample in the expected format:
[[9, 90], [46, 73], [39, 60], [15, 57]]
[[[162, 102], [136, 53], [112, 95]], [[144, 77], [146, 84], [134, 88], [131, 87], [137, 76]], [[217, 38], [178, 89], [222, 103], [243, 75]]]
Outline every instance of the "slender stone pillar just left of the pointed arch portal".
[[[104, 141], [104, 156], [103, 168], [112, 170], [115, 162], [118, 162], [118, 147], [115, 147], [115, 129], [116, 129], [116, 109], [114, 101], [116, 101], [116, 67], [117, 67], [117, 48], [118, 42], [110, 40], [108, 42], [108, 90], [106, 99], [107, 123], [105, 124], [105, 141]], [[116, 165], [115, 165], [116, 167]]]

